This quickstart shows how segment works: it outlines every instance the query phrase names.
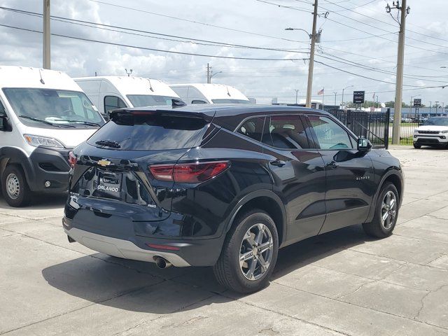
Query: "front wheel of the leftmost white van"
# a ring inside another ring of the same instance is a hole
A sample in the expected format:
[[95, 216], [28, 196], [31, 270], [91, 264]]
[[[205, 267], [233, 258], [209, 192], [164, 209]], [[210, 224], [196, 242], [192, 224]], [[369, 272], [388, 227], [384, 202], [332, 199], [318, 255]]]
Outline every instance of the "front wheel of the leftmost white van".
[[31, 191], [21, 167], [8, 165], [1, 175], [3, 197], [11, 207], [25, 207], [31, 201]]

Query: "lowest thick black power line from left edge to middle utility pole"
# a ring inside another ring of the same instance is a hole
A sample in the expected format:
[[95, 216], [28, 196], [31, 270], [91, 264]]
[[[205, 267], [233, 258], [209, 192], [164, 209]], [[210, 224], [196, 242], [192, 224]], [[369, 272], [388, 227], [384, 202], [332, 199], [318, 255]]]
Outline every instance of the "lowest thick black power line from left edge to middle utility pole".
[[[34, 30], [34, 29], [27, 29], [27, 28], [20, 28], [10, 25], [1, 25], [0, 27], [7, 27], [11, 29], [18, 29], [22, 31], [32, 31], [34, 33], [42, 34], [42, 31]], [[305, 58], [255, 58], [255, 57], [232, 57], [232, 56], [218, 56], [218, 55], [205, 55], [205, 54], [197, 54], [194, 52], [181, 52], [181, 51], [173, 51], [173, 50], [162, 50], [162, 49], [155, 49], [155, 48], [147, 48], [147, 47], [141, 47], [137, 45], [128, 45], [123, 43], [113, 43], [113, 42], [106, 42], [106, 41], [98, 41], [93, 40], [91, 38], [82, 38], [82, 37], [76, 37], [76, 36], [69, 36], [69, 35], [63, 35], [63, 34], [55, 34], [52, 33], [52, 36], [58, 36], [58, 37], [64, 37], [64, 38], [73, 38], [78, 41], [87, 41], [87, 42], [94, 42], [94, 43], [101, 43], [101, 44], [107, 44], [107, 45], [116, 45], [119, 47], [126, 47], [126, 48], [135, 48], [135, 49], [141, 49], [141, 50], [151, 50], [151, 51], [158, 51], [158, 52], [167, 52], [170, 54], [176, 54], [176, 55], [189, 55], [189, 56], [201, 56], [201, 57], [214, 57], [214, 58], [223, 58], [223, 59], [245, 59], [245, 60], [252, 60], [252, 61], [298, 61], [298, 60], [306, 60]]]

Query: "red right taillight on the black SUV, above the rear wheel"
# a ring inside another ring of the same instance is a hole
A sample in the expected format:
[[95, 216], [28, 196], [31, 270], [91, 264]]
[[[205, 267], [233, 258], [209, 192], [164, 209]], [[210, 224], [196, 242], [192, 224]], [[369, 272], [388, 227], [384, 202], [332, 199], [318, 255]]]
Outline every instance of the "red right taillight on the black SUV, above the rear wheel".
[[230, 167], [228, 161], [178, 163], [149, 166], [151, 174], [160, 181], [200, 183], [214, 178]]

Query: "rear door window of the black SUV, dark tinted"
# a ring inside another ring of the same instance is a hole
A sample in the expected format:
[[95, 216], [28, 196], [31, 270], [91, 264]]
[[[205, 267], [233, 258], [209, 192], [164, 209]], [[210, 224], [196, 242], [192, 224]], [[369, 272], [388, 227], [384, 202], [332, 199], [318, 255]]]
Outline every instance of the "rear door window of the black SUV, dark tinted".
[[300, 116], [271, 116], [267, 121], [269, 127], [262, 137], [264, 144], [284, 149], [309, 148]]

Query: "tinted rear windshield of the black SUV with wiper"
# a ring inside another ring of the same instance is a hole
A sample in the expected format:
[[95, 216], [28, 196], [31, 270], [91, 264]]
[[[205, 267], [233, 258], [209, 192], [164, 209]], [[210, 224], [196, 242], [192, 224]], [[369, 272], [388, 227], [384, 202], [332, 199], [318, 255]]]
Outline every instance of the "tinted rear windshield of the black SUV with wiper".
[[122, 151], [191, 148], [206, 131], [207, 122], [200, 118], [120, 116], [93, 134], [87, 143]]

